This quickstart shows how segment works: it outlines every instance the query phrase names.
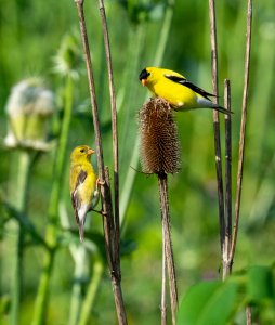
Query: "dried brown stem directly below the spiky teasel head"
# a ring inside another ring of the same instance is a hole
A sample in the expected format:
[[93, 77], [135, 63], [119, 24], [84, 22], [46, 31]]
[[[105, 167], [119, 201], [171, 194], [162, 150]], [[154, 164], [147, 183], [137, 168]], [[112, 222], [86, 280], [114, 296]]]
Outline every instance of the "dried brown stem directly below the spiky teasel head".
[[176, 316], [176, 311], [178, 311], [178, 288], [176, 288], [176, 277], [175, 277], [172, 240], [171, 240], [170, 214], [169, 214], [167, 174], [166, 173], [158, 174], [158, 186], [159, 186], [161, 219], [162, 219], [162, 233], [163, 233], [162, 240], [165, 242], [166, 263], [167, 263], [167, 271], [168, 271], [168, 277], [169, 277], [172, 324], [175, 325], [175, 316]]

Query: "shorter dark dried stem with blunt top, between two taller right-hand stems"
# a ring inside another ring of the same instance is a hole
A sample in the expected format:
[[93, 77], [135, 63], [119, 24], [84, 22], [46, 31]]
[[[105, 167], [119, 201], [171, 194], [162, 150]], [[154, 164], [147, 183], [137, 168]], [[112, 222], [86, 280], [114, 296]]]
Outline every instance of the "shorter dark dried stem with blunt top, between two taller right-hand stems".
[[[224, 80], [224, 107], [231, 110], [231, 83]], [[232, 240], [232, 127], [231, 115], [225, 115], [225, 238], [223, 250], [223, 280], [231, 272], [230, 251]]]

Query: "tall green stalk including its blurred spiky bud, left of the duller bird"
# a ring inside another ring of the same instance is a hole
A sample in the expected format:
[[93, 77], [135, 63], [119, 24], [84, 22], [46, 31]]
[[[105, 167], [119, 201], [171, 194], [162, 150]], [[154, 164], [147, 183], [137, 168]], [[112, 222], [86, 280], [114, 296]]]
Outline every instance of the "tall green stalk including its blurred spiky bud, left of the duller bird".
[[[81, 53], [81, 52], [80, 52]], [[31, 325], [42, 325], [48, 314], [50, 282], [53, 274], [54, 258], [58, 248], [57, 231], [60, 222], [60, 202], [64, 185], [68, 133], [74, 107], [75, 84], [78, 80], [79, 48], [74, 35], [66, 35], [57, 55], [54, 57], [54, 72], [63, 78], [63, 117], [60, 121], [57, 145], [54, 154], [54, 176], [48, 208], [48, 224], [44, 239], [49, 249], [43, 252], [42, 272], [39, 278], [37, 297], [32, 311]]]

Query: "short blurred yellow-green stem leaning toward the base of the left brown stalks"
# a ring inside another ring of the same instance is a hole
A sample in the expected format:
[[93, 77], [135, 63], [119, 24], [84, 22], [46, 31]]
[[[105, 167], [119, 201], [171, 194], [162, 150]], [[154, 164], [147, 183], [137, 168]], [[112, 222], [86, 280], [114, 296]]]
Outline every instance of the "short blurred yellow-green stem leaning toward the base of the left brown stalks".
[[95, 296], [102, 278], [103, 271], [104, 268], [102, 261], [96, 259], [93, 263], [93, 274], [90, 284], [88, 286], [86, 299], [82, 303], [78, 325], [86, 325], [89, 322], [89, 316], [95, 300]]

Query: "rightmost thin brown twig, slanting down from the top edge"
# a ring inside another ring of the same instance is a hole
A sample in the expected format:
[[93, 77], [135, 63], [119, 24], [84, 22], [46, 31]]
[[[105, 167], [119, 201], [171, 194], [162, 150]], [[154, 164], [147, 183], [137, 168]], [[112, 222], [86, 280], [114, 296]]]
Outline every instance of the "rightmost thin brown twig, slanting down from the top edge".
[[247, 102], [248, 102], [248, 86], [249, 86], [249, 66], [250, 66], [250, 51], [251, 51], [251, 27], [252, 27], [252, 1], [248, 0], [246, 57], [245, 57], [245, 80], [244, 80], [241, 122], [240, 122], [240, 136], [239, 136], [237, 192], [236, 192], [235, 217], [234, 217], [234, 226], [233, 226], [233, 235], [232, 235], [232, 247], [231, 247], [231, 253], [230, 253], [231, 268], [233, 266], [233, 261], [234, 261], [234, 255], [235, 255], [235, 249], [236, 249], [236, 244], [237, 244], [238, 223], [239, 223], [239, 207], [240, 207], [243, 168], [244, 168], [244, 157], [245, 157]]

